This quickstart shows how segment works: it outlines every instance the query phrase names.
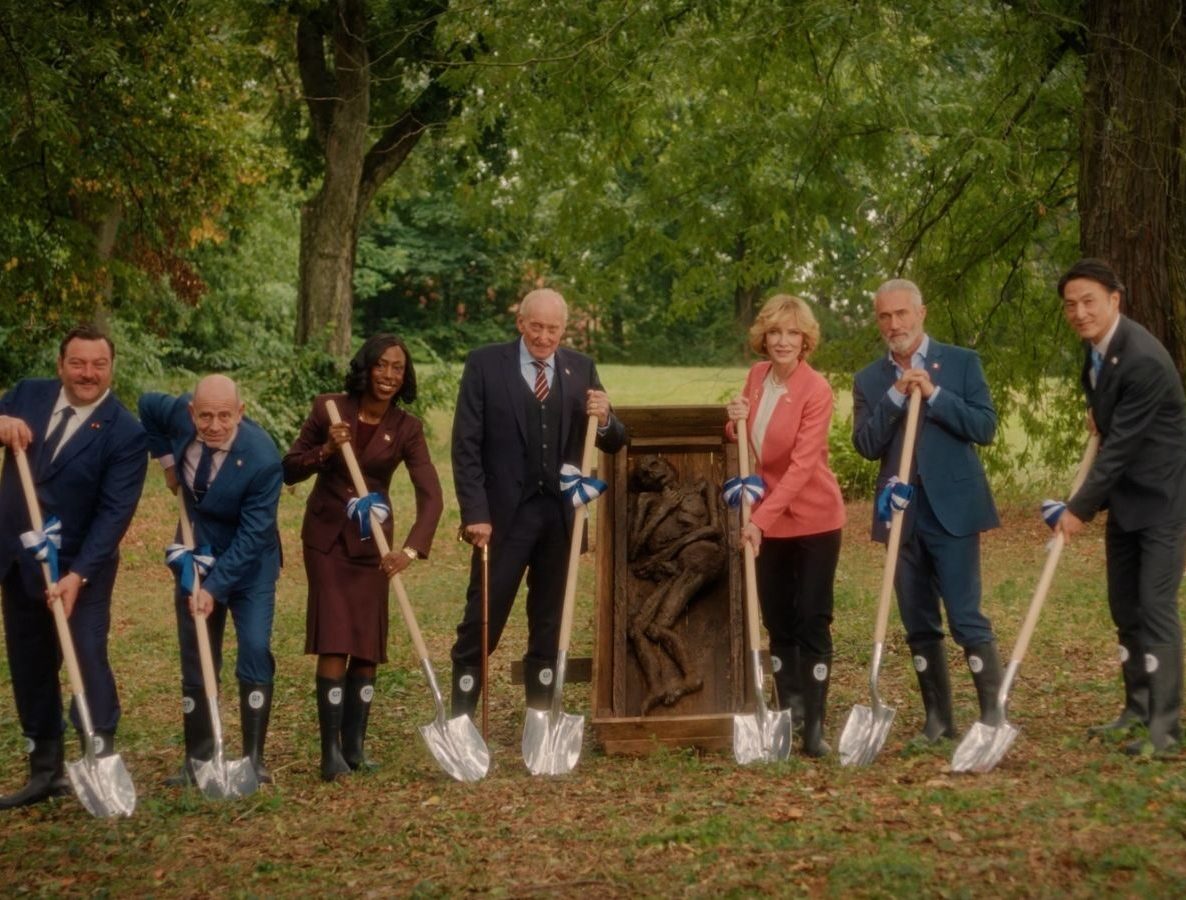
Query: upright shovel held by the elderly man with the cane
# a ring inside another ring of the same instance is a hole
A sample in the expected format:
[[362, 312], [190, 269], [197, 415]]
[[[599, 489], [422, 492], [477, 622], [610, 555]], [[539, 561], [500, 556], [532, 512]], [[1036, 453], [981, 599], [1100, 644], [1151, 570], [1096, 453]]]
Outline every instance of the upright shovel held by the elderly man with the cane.
[[[585, 452], [581, 454], [581, 478], [593, 471], [597, 441], [597, 416], [589, 416], [585, 428]], [[568, 642], [573, 634], [576, 607], [576, 573], [581, 561], [581, 538], [588, 508], [579, 504], [573, 512], [573, 538], [568, 545], [568, 576], [565, 581], [565, 607], [560, 615], [560, 643], [556, 649], [556, 672], [551, 684], [551, 709], [528, 709], [523, 722], [523, 761], [533, 775], [563, 775], [573, 771], [581, 757], [585, 716], [569, 715], [563, 709], [565, 669], [568, 665]]]

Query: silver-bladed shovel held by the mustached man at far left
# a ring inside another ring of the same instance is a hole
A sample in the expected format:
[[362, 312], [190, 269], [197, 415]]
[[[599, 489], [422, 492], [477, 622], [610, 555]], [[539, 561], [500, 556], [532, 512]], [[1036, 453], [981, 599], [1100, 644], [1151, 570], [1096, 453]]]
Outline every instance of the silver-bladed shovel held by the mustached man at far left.
[[[20, 473], [25, 503], [28, 505], [30, 523], [33, 530], [40, 535], [45, 530], [45, 524], [42, 519], [40, 504], [37, 502], [33, 475], [28, 471], [28, 460], [25, 458], [24, 451], [13, 449], [11, 452], [17, 459], [17, 471]], [[49, 562], [43, 560], [42, 574], [45, 576], [45, 586], [52, 598], [53, 624], [58, 630], [58, 643], [62, 645], [62, 656], [70, 676], [70, 692], [74, 694], [75, 709], [78, 710], [78, 720], [82, 722], [85, 747], [81, 760], [66, 764], [66, 774], [70, 777], [75, 793], [91, 816], [100, 818], [130, 816], [136, 808], [135, 785], [132, 784], [132, 775], [128, 774], [128, 768], [123, 765], [123, 759], [120, 758], [119, 753], [113, 753], [109, 757], [95, 755], [95, 728], [90, 721], [87, 689], [82, 681], [82, 670], [78, 668], [74, 638], [70, 636], [70, 625], [66, 623], [66, 613], [57, 593], [57, 573], [51, 570]]]

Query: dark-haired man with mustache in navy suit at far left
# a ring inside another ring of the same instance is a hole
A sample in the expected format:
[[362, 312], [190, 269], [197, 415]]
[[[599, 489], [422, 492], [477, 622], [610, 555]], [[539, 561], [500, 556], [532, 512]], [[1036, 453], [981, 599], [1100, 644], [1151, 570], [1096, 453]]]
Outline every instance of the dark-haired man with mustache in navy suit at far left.
[[[32, 528], [13, 452], [28, 454], [42, 515], [62, 523], [57, 592], [70, 618], [95, 751], [115, 752], [120, 701], [107, 660], [111, 588], [147, 455], [145, 433], [111, 394], [115, 345], [101, 331], [70, 331], [58, 350], [57, 378], [19, 382], [0, 398], [0, 594], [12, 689], [28, 740], [28, 783], [0, 797], [0, 809], [69, 793], [62, 746], [62, 664], [40, 563], [21, 550]], [[71, 710], [75, 727], [81, 727]]]

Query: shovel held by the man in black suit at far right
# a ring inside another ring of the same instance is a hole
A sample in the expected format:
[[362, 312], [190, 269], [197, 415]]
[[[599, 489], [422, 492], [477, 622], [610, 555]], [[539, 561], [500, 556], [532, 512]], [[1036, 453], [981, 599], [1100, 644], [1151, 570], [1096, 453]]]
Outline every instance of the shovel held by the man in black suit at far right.
[[[1099, 435], [1093, 434], [1088, 439], [1088, 446], [1083, 451], [1079, 468], [1075, 473], [1075, 480], [1071, 484], [1072, 497], [1083, 485], [1088, 472], [1091, 471], [1091, 464], [1095, 461], [1096, 451], [1098, 449]], [[1042, 604], [1046, 602], [1046, 593], [1054, 580], [1054, 570], [1058, 568], [1058, 560], [1063, 555], [1063, 547], [1065, 544], [1066, 538], [1063, 536], [1063, 532], [1056, 532], [1050, 543], [1050, 550], [1046, 554], [1046, 563], [1042, 566], [1041, 575], [1038, 577], [1034, 595], [1029, 600], [1029, 609], [1026, 612], [1026, 619], [1021, 624], [1021, 632], [1013, 645], [1013, 656], [1009, 658], [1009, 665], [1005, 670], [1005, 678], [1001, 682], [1001, 690], [996, 700], [997, 708], [1001, 710], [1001, 723], [990, 726], [976, 722], [968, 729], [968, 734], [959, 741], [959, 746], [956, 747], [956, 752], [951, 757], [951, 768], [955, 772], [991, 772], [996, 767], [996, 764], [1005, 758], [1009, 747], [1013, 746], [1013, 741], [1018, 738], [1020, 729], [1015, 725], [1010, 725], [1006, 715], [1008, 711], [1009, 688], [1013, 687], [1013, 679], [1016, 677], [1018, 669], [1021, 668], [1021, 660], [1029, 649], [1029, 639], [1038, 626], [1038, 617], [1041, 614]]]

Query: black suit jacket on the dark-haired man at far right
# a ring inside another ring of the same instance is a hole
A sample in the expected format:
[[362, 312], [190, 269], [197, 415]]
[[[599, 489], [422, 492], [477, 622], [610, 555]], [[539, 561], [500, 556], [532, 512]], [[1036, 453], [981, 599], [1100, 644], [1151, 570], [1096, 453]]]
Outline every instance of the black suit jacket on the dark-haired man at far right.
[[1091, 387], [1091, 346], [1080, 375], [1099, 429], [1099, 454], [1067, 509], [1088, 521], [1107, 509], [1124, 531], [1186, 521], [1186, 397], [1161, 343], [1120, 319]]

